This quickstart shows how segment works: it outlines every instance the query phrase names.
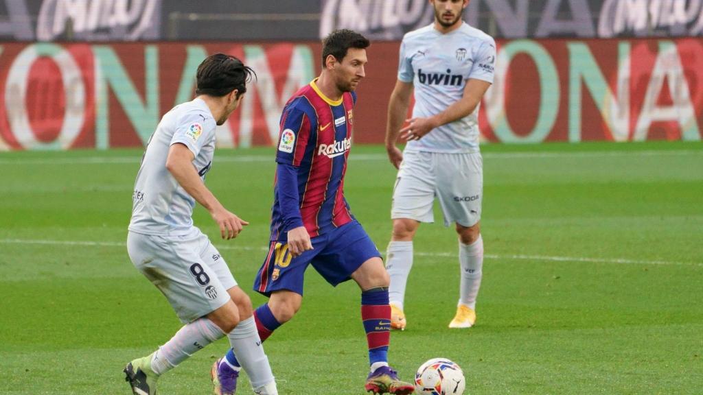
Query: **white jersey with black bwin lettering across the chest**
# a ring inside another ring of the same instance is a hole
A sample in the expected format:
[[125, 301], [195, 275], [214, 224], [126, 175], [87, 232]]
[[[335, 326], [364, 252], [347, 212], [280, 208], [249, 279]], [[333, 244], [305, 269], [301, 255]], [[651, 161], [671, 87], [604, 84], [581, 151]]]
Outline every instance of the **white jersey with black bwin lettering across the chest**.
[[[463, 22], [442, 34], [434, 25], [409, 32], [400, 47], [398, 79], [415, 87], [413, 117], [431, 117], [463, 97], [467, 79], [493, 84], [496, 42]], [[479, 150], [479, 106], [466, 117], [432, 129], [408, 152], [475, 153]]]

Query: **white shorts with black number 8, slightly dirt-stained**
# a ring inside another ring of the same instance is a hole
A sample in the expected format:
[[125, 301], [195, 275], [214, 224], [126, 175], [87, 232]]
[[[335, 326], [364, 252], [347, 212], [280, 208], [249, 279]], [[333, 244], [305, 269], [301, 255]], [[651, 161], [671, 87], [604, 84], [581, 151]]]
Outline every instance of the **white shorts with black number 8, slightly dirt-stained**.
[[127, 252], [183, 323], [219, 309], [230, 299], [227, 290], [237, 285], [224, 258], [198, 228], [183, 236], [130, 231]]

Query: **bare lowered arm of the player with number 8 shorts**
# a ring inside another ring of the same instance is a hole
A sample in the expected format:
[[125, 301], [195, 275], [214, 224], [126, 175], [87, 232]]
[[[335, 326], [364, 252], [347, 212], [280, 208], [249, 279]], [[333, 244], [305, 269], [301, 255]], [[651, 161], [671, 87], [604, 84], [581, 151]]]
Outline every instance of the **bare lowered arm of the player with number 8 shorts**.
[[210, 192], [205, 183], [200, 179], [198, 171], [193, 167], [195, 155], [183, 143], [174, 143], [169, 148], [166, 158], [166, 169], [174, 176], [180, 186], [191, 195], [195, 201], [205, 207], [212, 215], [212, 219], [219, 225], [220, 234], [225, 240], [236, 238], [242, 226], [248, 225], [247, 221], [240, 219], [235, 214], [228, 212], [221, 205], [217, 197]]

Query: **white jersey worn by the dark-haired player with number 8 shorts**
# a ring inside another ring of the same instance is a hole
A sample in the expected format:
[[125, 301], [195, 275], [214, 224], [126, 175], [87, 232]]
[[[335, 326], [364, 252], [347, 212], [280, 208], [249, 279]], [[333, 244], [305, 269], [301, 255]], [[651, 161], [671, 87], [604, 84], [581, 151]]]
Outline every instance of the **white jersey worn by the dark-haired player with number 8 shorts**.
[[186, 235], [193, 228], [195, 199], [166, 169], [174, 143], [193, 152], [193, 167], [205, 181], [212, 165], [217, 123], [199, 98], [176, 105], [164, 115], [149, 139], [134, 183], [129, 230], [146, 235]]

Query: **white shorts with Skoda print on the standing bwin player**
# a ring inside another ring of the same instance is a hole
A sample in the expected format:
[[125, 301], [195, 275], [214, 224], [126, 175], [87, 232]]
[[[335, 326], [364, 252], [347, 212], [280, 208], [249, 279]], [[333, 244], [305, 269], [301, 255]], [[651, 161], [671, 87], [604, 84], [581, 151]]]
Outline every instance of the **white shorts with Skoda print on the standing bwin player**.
[[439, 200], [445, 226], [477, 224], [483, 200], [481, 153], [404, 153], [393, 189], [391, 218], [434, 222], [434, 197]]

